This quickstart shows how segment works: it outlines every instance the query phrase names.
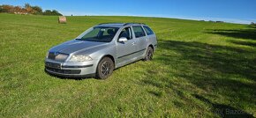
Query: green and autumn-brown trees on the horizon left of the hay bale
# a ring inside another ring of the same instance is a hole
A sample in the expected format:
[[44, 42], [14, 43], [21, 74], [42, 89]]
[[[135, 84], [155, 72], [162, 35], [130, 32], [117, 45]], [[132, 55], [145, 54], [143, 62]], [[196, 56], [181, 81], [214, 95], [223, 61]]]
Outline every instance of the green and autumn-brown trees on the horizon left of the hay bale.
[[34, 14], [34, 15], [49, 15], [49, 16], [63, 16], [56, 10], [45, 10], [42, 11], [40, 6], [32, 6], [30, 4], [25, 4], [24, 7], [13, 6], [8, 4], [0, 5], [0, 12], [8, 12], [15, 14]]

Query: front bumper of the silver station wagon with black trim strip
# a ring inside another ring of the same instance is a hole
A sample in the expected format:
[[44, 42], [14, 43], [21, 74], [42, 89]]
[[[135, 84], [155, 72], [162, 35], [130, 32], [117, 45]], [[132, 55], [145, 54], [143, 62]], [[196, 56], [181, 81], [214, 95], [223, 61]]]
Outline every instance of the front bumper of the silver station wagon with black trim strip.
[[45, 71], [61, 77], [92, 77], [96, 72], [96, 66], [93, 61], [60, 63], [50, 59], [45, 60]]

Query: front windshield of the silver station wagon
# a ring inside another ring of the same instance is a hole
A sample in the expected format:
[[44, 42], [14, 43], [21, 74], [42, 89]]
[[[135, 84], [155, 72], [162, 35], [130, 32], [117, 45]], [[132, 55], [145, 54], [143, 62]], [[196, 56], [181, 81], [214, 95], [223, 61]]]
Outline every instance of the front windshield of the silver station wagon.
[[82, 33], [77, 40], [109, 42], [112, 41], [118, 29], [118, 27], [94, 26]]

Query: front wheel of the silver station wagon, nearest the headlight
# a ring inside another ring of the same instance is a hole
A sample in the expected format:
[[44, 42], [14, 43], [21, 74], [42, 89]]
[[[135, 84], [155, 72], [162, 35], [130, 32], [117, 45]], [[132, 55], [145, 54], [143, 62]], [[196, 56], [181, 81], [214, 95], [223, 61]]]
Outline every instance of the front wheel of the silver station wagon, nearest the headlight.
[[108, 78], [114, 70], [114, 63], [109, 57], [103, 57], [97, 66], [96, 77], [99, 79]]

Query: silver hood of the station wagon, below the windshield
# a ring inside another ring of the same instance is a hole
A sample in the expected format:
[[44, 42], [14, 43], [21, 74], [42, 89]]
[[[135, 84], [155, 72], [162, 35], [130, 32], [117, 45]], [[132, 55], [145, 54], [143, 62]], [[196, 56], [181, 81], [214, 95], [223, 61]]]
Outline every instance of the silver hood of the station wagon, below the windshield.
[[59, 45], [53, 47], [53, 48], [50, 48], [49, 52], [72, 54], [72, 53], [79, 52], [82, 50], [100, 47], [105, 44], [106, 44], [106, 42], [72, 40], [72, 41], [66, 41], [62, 44], [59, 44]]

